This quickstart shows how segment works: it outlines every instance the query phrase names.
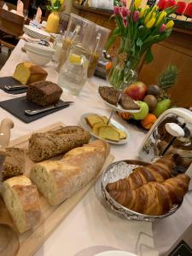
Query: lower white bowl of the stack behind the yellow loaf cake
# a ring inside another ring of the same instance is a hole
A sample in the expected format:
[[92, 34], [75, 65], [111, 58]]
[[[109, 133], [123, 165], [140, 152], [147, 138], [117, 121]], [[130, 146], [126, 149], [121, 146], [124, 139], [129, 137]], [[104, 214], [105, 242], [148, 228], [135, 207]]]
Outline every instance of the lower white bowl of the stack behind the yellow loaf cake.
[[26, 55], [32, 63], [37, 64], [38, 66], [44, 66], [52, 59], [52, 55], [40, 55], [29, 49], [26, 49]]

